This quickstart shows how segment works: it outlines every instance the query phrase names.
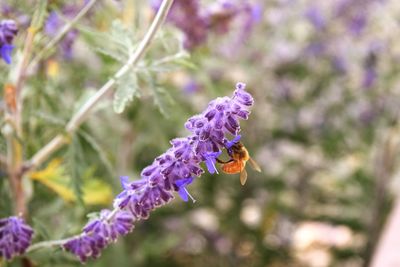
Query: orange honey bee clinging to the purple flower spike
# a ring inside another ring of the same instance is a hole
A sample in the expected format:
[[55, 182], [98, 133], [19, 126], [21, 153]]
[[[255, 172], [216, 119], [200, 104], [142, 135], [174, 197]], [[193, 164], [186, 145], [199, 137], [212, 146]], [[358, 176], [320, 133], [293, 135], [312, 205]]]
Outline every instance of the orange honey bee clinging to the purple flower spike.
[[249, 155], [246, 147], [241, 142], [236, 142], [228, 150], [228, 155], [231, 157], [228, 161], [216, 159], [217, 162], [222, 164], [222, 171], [228, 174], [240, 173], [240, 183], [244, 185], [247, 180], [246, 163], [249, 162], [250, 166], [261, 172], [260, 166]]

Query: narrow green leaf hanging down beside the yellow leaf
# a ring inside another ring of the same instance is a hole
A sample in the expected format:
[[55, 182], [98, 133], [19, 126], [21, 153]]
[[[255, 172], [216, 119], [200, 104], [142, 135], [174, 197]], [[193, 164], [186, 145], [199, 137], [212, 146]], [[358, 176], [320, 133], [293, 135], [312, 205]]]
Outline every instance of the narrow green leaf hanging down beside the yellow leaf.
[[74, 134], [71, 138], [71, 144], [67, 152], [67, 165], [71, 175], [71, 187], [74, 191], [75, 197], [80, 204], [83, 205], [83, 162], [84, 156], [82, 151], [81, 142], [79, 137]]

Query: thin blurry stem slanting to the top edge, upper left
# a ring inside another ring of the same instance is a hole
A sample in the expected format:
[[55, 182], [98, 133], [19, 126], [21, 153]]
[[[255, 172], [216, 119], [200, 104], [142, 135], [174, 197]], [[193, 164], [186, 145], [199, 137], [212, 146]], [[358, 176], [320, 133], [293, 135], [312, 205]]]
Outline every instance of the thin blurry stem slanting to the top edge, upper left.
[[71, 28], [83, 17], [85, 14], [94, 6], [94, 4], [97, 2], [97, 0], [91, 0], [89, 3], [87, 3], [81, 11], [68, 23], [64, 25], [64, 27], [57, 33], [57, 35], [50, 40], [50, 42], [47, 43], [47, 45], [37, 53], [37, 55], [33, 58], [31, 63], [29, 64], [28, 67], [28, 73], [30, 73], [33, 68], [42, 60], [46, 53], [52, 49], [56, 44], [58, 44], [61, 39], [67, 34]]

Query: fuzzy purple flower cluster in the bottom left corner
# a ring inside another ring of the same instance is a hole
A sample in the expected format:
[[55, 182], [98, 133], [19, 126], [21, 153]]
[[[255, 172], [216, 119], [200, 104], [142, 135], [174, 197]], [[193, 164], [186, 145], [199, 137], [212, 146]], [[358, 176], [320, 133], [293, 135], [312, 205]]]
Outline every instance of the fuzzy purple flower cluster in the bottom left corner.
[[32, 228], [17, 216], [0, 219], [0, 258], [23, 254], [31, 244]]

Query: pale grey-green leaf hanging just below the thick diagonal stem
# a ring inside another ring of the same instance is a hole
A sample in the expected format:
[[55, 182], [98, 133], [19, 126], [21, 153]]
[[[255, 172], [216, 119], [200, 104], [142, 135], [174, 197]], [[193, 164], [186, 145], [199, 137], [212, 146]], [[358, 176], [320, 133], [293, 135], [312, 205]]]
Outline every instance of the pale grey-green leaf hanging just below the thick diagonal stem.
[[135, 74], [127, 73], [117, 83], [113, 107], [116, 113], [122, 113], [129, 101], [133, 101], [135, 97], [140, 97], [140, 92]]

